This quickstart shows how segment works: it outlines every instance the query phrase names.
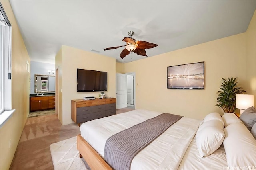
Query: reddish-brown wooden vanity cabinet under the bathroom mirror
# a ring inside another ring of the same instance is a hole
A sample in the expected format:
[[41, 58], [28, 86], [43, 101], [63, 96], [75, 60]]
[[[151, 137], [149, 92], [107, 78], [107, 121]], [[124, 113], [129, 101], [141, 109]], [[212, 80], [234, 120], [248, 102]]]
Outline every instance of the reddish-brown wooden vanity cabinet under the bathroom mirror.
[[48, 109], [55, 109], [55, 95], [30, 97], [30, 112]]

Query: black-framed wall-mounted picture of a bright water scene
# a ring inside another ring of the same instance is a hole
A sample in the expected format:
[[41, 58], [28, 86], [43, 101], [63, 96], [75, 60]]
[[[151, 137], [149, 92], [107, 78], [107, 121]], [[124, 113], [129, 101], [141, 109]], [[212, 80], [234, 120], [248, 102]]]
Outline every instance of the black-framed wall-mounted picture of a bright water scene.
[[168, 89], [204, 89], [204, 62], [167, 67]]

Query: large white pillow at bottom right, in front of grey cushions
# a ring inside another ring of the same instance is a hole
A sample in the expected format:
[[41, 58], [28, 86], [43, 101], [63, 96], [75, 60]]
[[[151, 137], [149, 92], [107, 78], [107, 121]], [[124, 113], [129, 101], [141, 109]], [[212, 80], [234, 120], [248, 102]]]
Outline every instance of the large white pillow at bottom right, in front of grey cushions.
[[223, 141], [228, 167], [256, 167], [256, 140], [242, 123], [232, 123], [224, 129]]

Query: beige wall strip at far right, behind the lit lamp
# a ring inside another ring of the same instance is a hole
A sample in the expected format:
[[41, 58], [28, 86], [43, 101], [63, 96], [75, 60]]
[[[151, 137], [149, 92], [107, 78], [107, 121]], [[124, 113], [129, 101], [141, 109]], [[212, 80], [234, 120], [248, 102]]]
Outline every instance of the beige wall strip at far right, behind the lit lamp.
[[246, 31], [246, 85], [247, 94], [254, 95], [256, 106], [256, 10]]

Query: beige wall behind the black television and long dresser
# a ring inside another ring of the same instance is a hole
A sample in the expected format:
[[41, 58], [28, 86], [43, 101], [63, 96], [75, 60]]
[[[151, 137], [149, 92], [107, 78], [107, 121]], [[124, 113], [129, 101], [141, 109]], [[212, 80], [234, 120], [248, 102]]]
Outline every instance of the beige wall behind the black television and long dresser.
[[77, 68], [108, 72], [108, 91], [105, 94], [109, 97], [116, 96], [116, 59], [112, 57], [63, 45], [62, 62], [56, 63], [56, 68], [62, 68], [59, 76], [59, 81], [62, 81], [59, 87], [59, 91], [62, 90], [62, 96], [59, 95], [59, 100], [62, 98], [62, 111], [59, 110], [62, 125], [74, 123], [71, 119], [72, 99], [82, 99], [84, 96], [98, 98], [100, 94], [100, 92], [76, 92]]

